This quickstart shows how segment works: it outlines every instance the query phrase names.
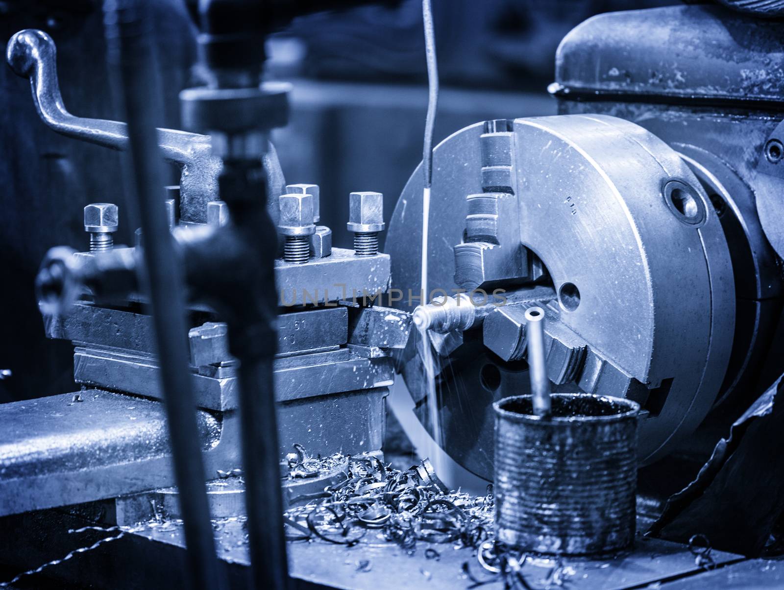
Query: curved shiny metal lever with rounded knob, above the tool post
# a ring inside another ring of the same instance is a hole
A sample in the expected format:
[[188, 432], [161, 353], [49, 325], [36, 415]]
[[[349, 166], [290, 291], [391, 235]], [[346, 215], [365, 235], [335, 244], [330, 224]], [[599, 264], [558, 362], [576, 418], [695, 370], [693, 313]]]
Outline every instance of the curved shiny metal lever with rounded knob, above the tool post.
[[[14, 73], [30, 78], [35, 108], [49, 128], [66, 137], [126, 150], [128, 129], [125, 123], [76, 117], [67, 111], [57, 82], [56, 56], [52, 38], [36, 29], [25, 29], [13, 35], [5, 53]], [[169, 162], [185, 166], [205, 153], [209, 154], [210, 138], [176, 129], [158, 129], [158, 145]]]

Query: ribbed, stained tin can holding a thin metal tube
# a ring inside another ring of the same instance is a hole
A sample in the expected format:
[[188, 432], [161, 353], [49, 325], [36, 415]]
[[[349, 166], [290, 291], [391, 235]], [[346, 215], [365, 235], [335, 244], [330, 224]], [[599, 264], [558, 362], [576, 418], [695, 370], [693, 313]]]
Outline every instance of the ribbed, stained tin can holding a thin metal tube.
[[528, 552], [595, 555], [635, 532], [639, 404], [591, 394], [495, 402], [495, 535]]

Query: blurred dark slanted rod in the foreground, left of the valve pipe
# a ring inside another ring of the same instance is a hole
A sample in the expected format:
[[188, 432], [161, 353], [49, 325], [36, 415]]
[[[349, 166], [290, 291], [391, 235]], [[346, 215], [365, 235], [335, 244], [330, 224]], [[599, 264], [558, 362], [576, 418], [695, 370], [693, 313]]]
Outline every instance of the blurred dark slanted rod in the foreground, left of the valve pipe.
[[146, 276], [162, 390], [180, 491], [192, 588], [222, 588], [209, 521], [201, 441], [188, 371], [185, 297], [166, 221], [162, 155], [155, 130], [163, 108], [154, 67], [147, 0], [106, 0], [103, 5], [110, 67], [128, 118], [130, 172], [125, 179], [139, 209]]

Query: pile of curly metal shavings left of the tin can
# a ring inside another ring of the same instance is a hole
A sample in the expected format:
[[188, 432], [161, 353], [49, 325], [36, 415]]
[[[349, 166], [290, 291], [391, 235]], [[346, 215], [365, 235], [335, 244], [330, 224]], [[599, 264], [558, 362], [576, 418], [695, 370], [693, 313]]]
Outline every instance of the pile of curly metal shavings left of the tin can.
[[[412, 555], [417, 541], [477, 547], [492, 534], [492, 486], [485, 496], [450, 492], [427, 459], [400, 471], [370, 455], [313, 458], [301, 446], [295, 449], [296, 461], [295, 453], [288, 461], [290, 478], [301, 477], [299, 469], [308, 462], [318, 464], [319, 473], [343, 469], [345, 477], [323, 493], [299, 497], [306, 503], [285, 513], [286, 524], [297, 523], [297, 531], [310, 531], [309, 540], [318, 537], [353, 546], [367, 530], [376, 529], [379, 537]], [[295, 538], [304, 540], [299, 534], [290, 537]], [[436, 555], [440, 557], [434, 549], [426, 552], [428, 559], [437, 559]]]

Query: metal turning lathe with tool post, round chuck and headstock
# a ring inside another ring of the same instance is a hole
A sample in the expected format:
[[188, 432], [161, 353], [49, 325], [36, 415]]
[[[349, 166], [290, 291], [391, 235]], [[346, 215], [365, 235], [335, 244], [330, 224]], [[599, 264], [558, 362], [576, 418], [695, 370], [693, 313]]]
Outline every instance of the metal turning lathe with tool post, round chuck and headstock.
[[[82, 521], [120, 527], [122, 551], [85, 554], [96, 564], [118, 555], [159, 565], [183, 559], [172, 557], [173, 548], [184, 539], [194, 546], [198, 526], [188, 526], [202, 505], [186, 482], [206, 479], [202, 524], [209, 528], [212, 517], [209, 531], [232, 584], [245, 580], [251, 563], [257, 587], [278, 585], [287, 559], [282, 512], [303, 498], [336, 497], [346, 457], [378, 469], [396, 373], [437, 445], [491, 482], [492, 405], [530, 392], [526, 311], [533, 307], [545, 314], [554, 392], [640, 404], [641, 466], [685, 447], [709, 457], [781, 375], [779, 20], [719, 5], [594, 16], [557, 50], [549, 87], [557, 115], [526, 117], [522, 103], [506, 118], [457, 130], [434, 148], [432, 186], [420, 165], [385, 218], [390, 195], [374, 187], [328, 195], [306, 184], [313, 179], [284, 178], [270, 143], [272, 129], [288, 122], [289, 86], [260, 82], [260, 39], [310, 12], [311, 3], [271, 2], [283, 16], [259, 27], [251, 18], [258, 7], [201, 4], [209, 83], [180, 94], [187, 131], [144, 133], [143, 123], [155, 120], [145, 104], [151, 70], [142, 67], [144, 33], [127, 6], [106, 9], [117, 16], [107, 16], [107, 31], [117, 27], [107, 38], [127, 125], [71, 114], [60, 94], [55, 35], [25, 29], [8, 43], [9, 67], [29, 78], [42, 124], [130, 152], [131, 180], [122, 189], [140, 206], [127, 211], [96, 195], [101, 202], [84, 208], [83, 251], [53, 243], [42, 262], [36, 289], [45, 333], [73, 344], [80, 389], [0, 405], [0, 516], [22, 537], [38, 531], [2, 545], [4, 566], [41, 561], [46, 554], [28, 545], [42, 544], [46, 534], [38, 533], [48, 522], [71, 532]], [[179, 184], [158, 182], [162, 159], [179, 167]], [[423, 195], [430, 198], [426, 292]], [[348, 202], [351, 249], [332, 246], [322, 224], [338, 198]], [[124, 224], [134, 231], [127, 245], [114, 239]], [[176, 289], [161, 287], [167, 277]], [[191, 406], [193, 416], [181, 410]], [[708, 431], [719, 435], [695, 435]], [[308, 471], [308, 457], [334, 464]], [[412, 469], [403, 473], [416, 490], [445, 493], [430, 463]], [[379, 484], [363, 473], [361, 485]], [[642, 479], [638, 493], [646, 493]], [[368, 516], [371, 531], [382, 517]], [[185, 532], [172, 541], [139, 527], [162, 518], [184, 521]], [[62, 548], [68, 534], [53, 538]], [[662, 543], [649, 553], [666, 552], [665, 541], [639, 541], [647, 542]], [[289, 543], [292, 576], [303, 585], [391, 588], [382, 573], [408, 563], [401, 552], [387, 566], [378, 558], [376, 578], [367, 564], [347, 574], [335, 563], [351, 545], [335, 544]], [[326, 553], [332, 549], [339, 556]], [[456, 558], [445, 556], [443, 571], [445, 563], [454, 571], [439, 588], [462, 583], [449, 559]], [[667, 567], [685, 567], [673, 563], [662, 565], [662, 579]], [[209, 575], [209, 563], [202, 566]], [[107, 587], [129, 571], [111, 569], [62, 577]], [[400, 575], [394, 587], [423, 574]], [[154, 579], [141, 576], [129, 587]]]

